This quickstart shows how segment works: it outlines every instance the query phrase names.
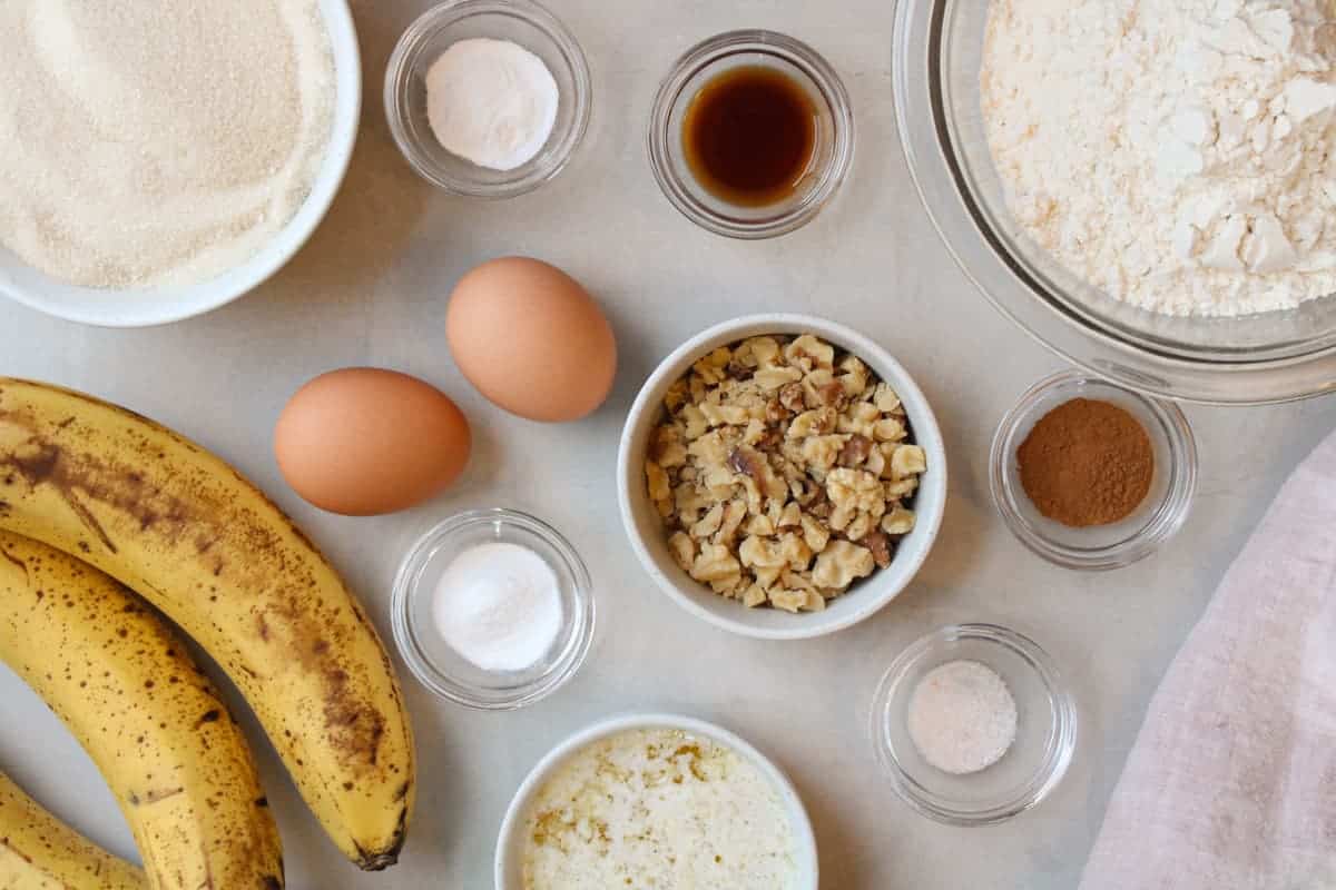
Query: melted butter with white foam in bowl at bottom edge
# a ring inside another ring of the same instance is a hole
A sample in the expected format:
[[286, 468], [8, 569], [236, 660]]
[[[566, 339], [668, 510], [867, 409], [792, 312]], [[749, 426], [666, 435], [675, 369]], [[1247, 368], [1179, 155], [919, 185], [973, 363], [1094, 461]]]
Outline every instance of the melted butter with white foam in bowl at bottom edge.
[[774, 785], [736, 751], [633, 730], [577, 751], [524, 822], [524, 890], [792, 890]]

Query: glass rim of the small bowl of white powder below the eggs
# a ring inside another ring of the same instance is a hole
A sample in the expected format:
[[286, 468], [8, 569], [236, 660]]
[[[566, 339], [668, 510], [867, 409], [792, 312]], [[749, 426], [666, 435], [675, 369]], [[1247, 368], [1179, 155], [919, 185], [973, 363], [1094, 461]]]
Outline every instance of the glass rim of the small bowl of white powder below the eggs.
[[[438, 671], [414, 642], [413, 619], [410, 618], [417, 575], [426, 564], [426, 560], [434, 555], [433, 551], [457, 538], [461, 532], [477, 528], [478, 526], [496, 526], [498, 523], [514, 526], [533, 534], [556, 551], [562, 562], [562, 568], [569, 571], [574, 579], [570, 592], [580, 606], [580, 614], [569, 619], [573, 622], [573, 644], [569, 646], [569, 651], [553, 662], [544, 674], [521, 686], [502, 690], [502, 694], [497, 694], [494, 690], [482, 691]], [[589, 570], [585, 567], [580, 554], [576, 552], [574, 547], [570, 546], [570, 542], [561, 532], [526, 512], [505, 507], [492, 507], [468, 510], [448, 516], [414, 540], [394, 575], [394, 587], [390, 594], [390, 623], [399, 655], [403, 658], [413, 677], [428, 691], [456, 705], [477, 710], [513, 711], [546, 698], [565, 686], [580, 671], [593, 643], [597, 622], [593, 582], [591, 580]]]

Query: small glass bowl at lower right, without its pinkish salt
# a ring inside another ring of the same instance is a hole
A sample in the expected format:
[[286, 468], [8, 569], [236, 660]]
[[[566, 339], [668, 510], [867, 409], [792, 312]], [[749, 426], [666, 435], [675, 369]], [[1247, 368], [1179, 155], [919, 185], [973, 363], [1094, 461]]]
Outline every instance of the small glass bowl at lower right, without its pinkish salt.
[[[953, 775], [930, 766], [908, 733], [908, 706], [923, 677], [973, 660], [1006, 682], [1017, 707], [1015, 741], [993, 766]], [[1077, 710], [1053, 659], [1015, 631], [951, 624], [906, 648], [872, 699], [872, 745], [895, 793], [919, 814], [963, 827], [995, 825], [1043, 801], [1071, 765]]]

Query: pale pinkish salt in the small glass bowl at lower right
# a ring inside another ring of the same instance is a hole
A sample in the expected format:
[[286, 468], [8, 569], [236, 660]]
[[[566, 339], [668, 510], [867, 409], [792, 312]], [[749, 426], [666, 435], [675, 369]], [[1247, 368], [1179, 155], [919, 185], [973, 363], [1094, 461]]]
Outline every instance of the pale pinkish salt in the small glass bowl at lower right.
[[929, 671], [910, 698], [914, 747], [931, 766], [967, 775], [993, 766], [1015, 741], [1015, 699], [979, 662], [947, 662]]

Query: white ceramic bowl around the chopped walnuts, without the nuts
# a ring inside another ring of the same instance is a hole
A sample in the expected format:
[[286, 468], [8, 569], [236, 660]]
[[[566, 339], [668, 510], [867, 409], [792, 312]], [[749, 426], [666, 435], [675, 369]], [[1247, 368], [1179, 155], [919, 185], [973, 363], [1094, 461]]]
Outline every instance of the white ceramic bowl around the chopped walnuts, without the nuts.
[[[668, 387], [691, 366], [720, 346], [763, 334], [815, 334], [860, 358], [882, 380], [899, 394], [908, 415], [914, 440], [927, 454], [927, 472], [914, 500], [918, 520], [914, 531], [900, 540], [887, 568], [879, 568], [847, 594], [830, 600], [826, 611], [791, 615], [775, 608], [745, 608], [724, 599], [692, 579], [677, 566], [659, 514], [645, 491], [645, 450], [649, 435], [663, 416]], [[717, 324], [693, 336], [663, 360], [645, 382], [627, 418], [617, 463], [617, 494], [621, 522], [631, 546], [655, 583], [687, 611], [744, 636], [762, 639], [803, 639], [831, 634], [868, 618], [904, 590], [927, 558], [946, 508], [946, 448], [942, 432], [923, 392], [890, 352], [843, 324], [808, 315], [751, 315]]]

